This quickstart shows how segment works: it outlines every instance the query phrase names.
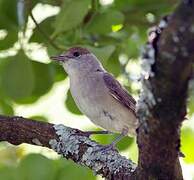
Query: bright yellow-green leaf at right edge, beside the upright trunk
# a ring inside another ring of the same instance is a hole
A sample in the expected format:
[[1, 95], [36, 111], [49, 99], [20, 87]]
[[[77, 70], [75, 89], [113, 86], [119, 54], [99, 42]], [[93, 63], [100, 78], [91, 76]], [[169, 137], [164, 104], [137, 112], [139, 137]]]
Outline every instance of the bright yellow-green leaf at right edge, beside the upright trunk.
[[181, 152], [185, 155], [184, 161], [194, 163], [194, 131], [191, 128], [184, 128], [181, 131]]

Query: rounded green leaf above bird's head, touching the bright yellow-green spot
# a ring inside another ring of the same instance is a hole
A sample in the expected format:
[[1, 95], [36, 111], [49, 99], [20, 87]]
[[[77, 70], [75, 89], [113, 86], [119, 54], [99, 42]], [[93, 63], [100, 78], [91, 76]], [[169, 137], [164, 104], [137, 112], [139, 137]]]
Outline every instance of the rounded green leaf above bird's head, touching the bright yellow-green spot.
[[106, 34], [112, 32], [113, 25], [123, 24], [123, 21], [124, 15], [120, 11], [107, 10], [96, 14], [86, 30], [93, 34]]

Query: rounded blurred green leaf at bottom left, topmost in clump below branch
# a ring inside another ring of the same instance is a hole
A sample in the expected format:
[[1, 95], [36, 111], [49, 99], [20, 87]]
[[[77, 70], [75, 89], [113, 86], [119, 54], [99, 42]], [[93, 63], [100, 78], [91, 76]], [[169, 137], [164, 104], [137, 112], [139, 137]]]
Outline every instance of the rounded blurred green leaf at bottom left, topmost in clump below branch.
[[55, 180], [56, 169], [52, 160], [40, 154], [30, 154], [18, 167], [21, 179], [25, 180]]

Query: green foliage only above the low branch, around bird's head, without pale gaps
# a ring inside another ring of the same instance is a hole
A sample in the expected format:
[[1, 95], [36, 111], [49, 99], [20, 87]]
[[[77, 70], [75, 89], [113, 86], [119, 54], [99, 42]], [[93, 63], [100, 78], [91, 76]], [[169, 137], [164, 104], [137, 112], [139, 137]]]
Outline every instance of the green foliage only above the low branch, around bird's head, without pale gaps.
[[[48, 55], [61, 53], [59, 49], [75, 45], [87, 47], [115, 76], [123, 73], [119, 56], [125, 54], [128, 59], [138, 58], [140, 48], [146, 42], [147, 29], [167, 12], [171, 12], [176, 4], [175, 0], [115, 0], [108, 5], [98, 0], [28, 0], [23, 3], [23, 10], [19, 8], [18, 2], [0, 0], [0, 29], [6, 32], [5, 37], [1, 38], [0, 49], [13, 47], [17, 52], [14, 56], [0, 59], [0, 97], [6, 102], [0, 104], [2, 112], [15, 102], [30, 104], [37, 101], [49, 92], [56, 81], [66, 77], [59, 65], [31, 59], [27, 55], [26, 44], [22, 42], [24, 36], [18, 36], [18, 32], [25, 35], [28, 31], [29, 11], [38, 3], [59, 6], [60, 11], [39, 22], [39, 26], [27, 38], [27, 44], [35, 42], [43, 45]], [[21, 21], [21, 17], [17, 16], [19, 12], [24, 16], [25, 25], [18, 23]], [[148, 15], [156, 21], [150, 22]], [[59, 49], [53, 47], [45, 35]], [[15, 42], [19, 42], [19, 47], [14, 46]], [[66, 101], [68, 109], [79, 114], [70, 94]]]

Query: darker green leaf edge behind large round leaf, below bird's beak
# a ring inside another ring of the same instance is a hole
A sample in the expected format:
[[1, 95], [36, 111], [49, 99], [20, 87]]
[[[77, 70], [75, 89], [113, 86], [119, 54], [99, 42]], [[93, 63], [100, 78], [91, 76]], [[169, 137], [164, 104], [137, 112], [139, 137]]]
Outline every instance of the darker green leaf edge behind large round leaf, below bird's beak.
[[35, 76], [35, 87], [32, 94], [40, 97], [51, 89], [54, 83], [54, 70], [53, 67], [48, 64], [36, 61], [32, 61], [31, 63]]

